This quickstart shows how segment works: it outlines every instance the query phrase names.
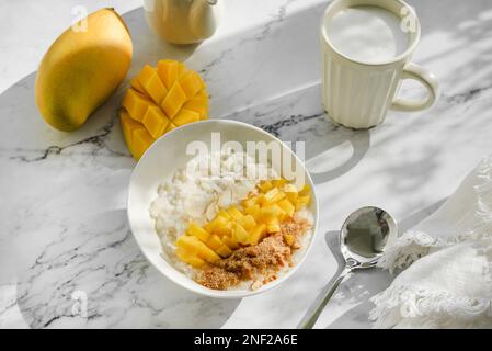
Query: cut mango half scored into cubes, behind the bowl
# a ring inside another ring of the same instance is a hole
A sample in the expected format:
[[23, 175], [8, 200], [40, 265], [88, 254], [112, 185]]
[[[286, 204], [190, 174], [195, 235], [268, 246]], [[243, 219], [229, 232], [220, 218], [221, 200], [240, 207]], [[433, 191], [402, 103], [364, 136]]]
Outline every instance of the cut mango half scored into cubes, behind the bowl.
[[130, 81], [119, 112], [125, 143], [136, 160], [175, 127], [207, 120], [208, 95], [202, 77], [183, 63], [164, 59], [144, 66]]

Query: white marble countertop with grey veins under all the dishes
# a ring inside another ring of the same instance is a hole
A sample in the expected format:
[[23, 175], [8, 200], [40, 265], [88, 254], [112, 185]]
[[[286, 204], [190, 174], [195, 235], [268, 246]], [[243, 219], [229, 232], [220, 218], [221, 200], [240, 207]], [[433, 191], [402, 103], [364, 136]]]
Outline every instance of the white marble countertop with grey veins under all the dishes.
[[[34, 104], [35, 69], [78, 3], [2, 2], [0, 328], [294, 328], [339, 269], [330, 248], [352, 210], [378, 205], [404, 230], [435, 211], [492, 149], [488, 0], [410, 1], [422, 22], [413, 60], [437, 76], [442, 95], [431, 110], [390, 112], [385, 124], [358, 132], [325, 120], [321, 105], [318, 25], [327, 1], [228, 0], [217, 34], [186, 48], [150, 34], [140, 1], [87, 3], [89, 11], [113, 5], [125, 13], [135, 42], [128, 77], [144, 63], [185, 59], [208, 83], [211, 117], [306, 141], [321, 210], [317, 242], [285, 284], [244, 299], [202, 297], [163, 278], [142, 257], [126, 219], [135, 161], [116, 109], [127, 82], [83, 128], [49, 128]], [[23, 16], [14, 15], [20, 11]], [[401, 93], [421, 91], [405, 83]], [[390, 282], [378, 270], [352, 276], [317, 327], [370, 327], [368, 299]], [[80, 294], [87, 315], [77, 313]]]

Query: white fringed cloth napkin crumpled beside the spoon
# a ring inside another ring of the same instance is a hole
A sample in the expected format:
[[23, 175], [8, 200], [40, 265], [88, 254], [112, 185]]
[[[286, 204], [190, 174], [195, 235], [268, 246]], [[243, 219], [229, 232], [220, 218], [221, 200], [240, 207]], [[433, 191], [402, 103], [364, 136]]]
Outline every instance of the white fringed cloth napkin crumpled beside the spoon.
[[378, 265], [407, 269], [371, 298], [375, 328], [492, 328], [492, 156]]

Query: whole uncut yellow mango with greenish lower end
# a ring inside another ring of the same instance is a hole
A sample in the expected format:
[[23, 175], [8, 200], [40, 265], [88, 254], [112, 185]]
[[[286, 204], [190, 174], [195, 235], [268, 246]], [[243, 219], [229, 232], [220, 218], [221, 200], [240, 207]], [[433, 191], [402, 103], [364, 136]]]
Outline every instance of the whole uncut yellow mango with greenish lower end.
[[124, 80], [133, 55], [131, 37], [113, 9], [88, 15], [87, 32], [65, 31], [41, 61], [35, 100], [54, 128], [79, 128]]

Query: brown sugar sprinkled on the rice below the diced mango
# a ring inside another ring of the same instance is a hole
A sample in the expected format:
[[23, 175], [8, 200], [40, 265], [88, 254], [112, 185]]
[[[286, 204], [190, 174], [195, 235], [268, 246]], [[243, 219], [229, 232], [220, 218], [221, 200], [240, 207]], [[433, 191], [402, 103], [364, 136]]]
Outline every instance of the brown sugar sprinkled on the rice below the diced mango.
[[[309, 223], [297, 216], [281, 225], [281, 231], [270, 235], [255, 246], [240, 248], [226, 259], [201, 270], [196, 282], [215, 290], [227, 290], [241, 281], [253, 281], [252, 288], [276, 279], [276, 272], [283, 267], [291, 267], [291, 256], [299, 248], [299, 237], [309, 228]], [[284, 235], [295, 236], [289, 246]]]

